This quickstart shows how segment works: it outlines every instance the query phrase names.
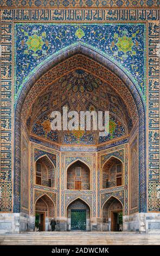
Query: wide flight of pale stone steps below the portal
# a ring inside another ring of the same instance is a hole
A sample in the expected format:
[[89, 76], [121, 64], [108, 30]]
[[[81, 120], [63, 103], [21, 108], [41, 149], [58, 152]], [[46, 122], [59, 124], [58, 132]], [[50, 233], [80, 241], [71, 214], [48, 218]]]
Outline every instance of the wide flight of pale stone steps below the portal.
[[0, 245], [160, 245], [158, 234], [28, 232], [0, 235]]

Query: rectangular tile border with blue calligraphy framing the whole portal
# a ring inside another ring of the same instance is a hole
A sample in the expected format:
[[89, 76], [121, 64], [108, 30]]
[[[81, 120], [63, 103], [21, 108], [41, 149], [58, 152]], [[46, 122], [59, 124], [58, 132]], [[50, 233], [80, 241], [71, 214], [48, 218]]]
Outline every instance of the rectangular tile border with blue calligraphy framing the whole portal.
[[[137, 1], [139, 3], [139, 1]], [[12, 1], [10, 1], [12, 5]], [[11, 6], [9, 4], [9, 6]], [[3, 5], [4, 7], [6, 5]], [[8, 6], [8, 5], [7, 5]], [[15, 5], [12, 5], [15, 7]], [[93, 5], [94, 6], [94, 5]], [[114, 5], [113, 5], [114, 6]], [[130, 7], [129, 3], [129, 7]], [[151, 6], [146, 4], [145, 7]], [[157, 198], [157, 186], [159, 185], [159, 9], [152, 3], [154, 9], [1, 9], [1, 171], [9, 172], [8, 178], [1, 180], [2, 212], [20, 211], [20, 173], [15, 173], [19, 162], [14, 160], [13, 132], [20, 132], [19, 120], [14, 121], [14, 84], [13, 84], [13, 26], [15, 22], [39, 21], [39, 22], [145, 22], [147, 25], [147, 105], [146, 105], [146, 127], [145, 118], [140, 117], [145, 132], [148, 155], [144, 150], [142, 155], [147, 158], [147, 170], [143, 185], [143, 196], [140, 196], [140, 211], [159, 211], [159, 199]], [[123, 5], [121, 5], [123, 7]], [[139, 5], [138, 5], [139, 7]], [[34, 78], [32, 78], [34, 80]], [[22, 95], [24, 92], [22, 92]], [[22, 99], [20, 97], [20, 100]], [[21, 105], [21, 104], [20, 104]], [[17, 108], [16, 111], [20, 111]], [[141, 133], [139, 132], [141, 136]], [[141, 141], [142, 138], [139, 138]], [[20, 157], [20, 141], [15, 138], [15, 149]], [[140, 147], [142, 150], [142, 148]], [[142, 157], [142, 156], [140, 156]], [[14, 161], [13, 161], [14, 160]], [[13, 163], [15, 166], [13, 166]], [[14, 169], [13, 169], [14, 167]], [[140, 163], [140, 168], [145, 169], [145, 163]], [[16, 177], [16, 184], [13, 181]], [[142, 180], [140, 181], [142, 182]], [[146, 191], [147, 207], [146, 207]], [[12, 193], [13, 192], [13, 193]], [[4, 199], [5, 198], [5, 199]], [[14, 198], [14, 202], [13, 202]]]

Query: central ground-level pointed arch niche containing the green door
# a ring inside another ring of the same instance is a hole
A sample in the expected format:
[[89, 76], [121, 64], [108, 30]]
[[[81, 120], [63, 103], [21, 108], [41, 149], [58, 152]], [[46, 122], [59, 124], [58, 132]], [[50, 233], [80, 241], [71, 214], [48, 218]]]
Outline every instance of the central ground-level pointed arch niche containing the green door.
[[90, 208], [81, 199], [74, 200], [67, 207], [67, 230], [90, 230]]

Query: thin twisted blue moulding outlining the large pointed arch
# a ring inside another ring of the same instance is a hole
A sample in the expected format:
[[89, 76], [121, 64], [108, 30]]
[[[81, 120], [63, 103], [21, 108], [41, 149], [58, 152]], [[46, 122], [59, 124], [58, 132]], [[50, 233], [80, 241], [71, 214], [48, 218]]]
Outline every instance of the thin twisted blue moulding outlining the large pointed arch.
[[126, 88], [130, 91], [133, 100], [136, 103], [138, 116], [139, 116], [139, 194], [140, 194], [140, 211], [146, 211], [146, 173], [145, 173], [145, 108], [143, 105], [142, 97], [138, 89], [131, 79], [122, 71], [116, 64], [112, 63], [103, 55], [88, 47], [76, 45], [69, 48], [65, 52], [61, 52], [53, 59], [41, 66], [28, 81], [24, 84], [20, 95], [18, 96], [15, 107], [15, 173], [14, 173], [14, 211], [20, 211], [20, 189], [21, 189], [21, 112], [23, 103], [37, 80], [40, 79], [47, 71], [51, 70], [54, 66], [65, 61], [66, 59], [76, 55], [82, 54], [88, 59], [94, 60], [107, 70], [110, 70], [115, 77], [118, 77], [121, 82], [125, 83]]

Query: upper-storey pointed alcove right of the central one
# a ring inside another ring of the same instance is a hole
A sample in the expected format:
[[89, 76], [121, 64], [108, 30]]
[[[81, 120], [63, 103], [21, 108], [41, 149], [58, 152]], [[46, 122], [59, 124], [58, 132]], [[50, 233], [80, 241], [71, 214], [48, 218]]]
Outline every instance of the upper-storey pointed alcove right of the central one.
[[116, 157], [110, 157], [102, 169], [102, 188], [123, 185], [123, 164]]

